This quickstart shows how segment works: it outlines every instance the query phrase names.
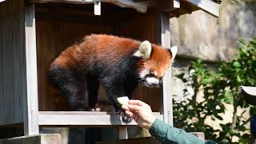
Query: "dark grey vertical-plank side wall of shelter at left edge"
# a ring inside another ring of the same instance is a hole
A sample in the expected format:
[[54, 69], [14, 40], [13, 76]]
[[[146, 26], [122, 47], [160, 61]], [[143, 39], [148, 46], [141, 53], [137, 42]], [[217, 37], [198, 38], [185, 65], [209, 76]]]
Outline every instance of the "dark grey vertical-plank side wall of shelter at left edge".
[[[23, 110], [21, 98], [22, 86], [26, 83], [22, 75], [22, 54], [20, 48], [24, 48], [24, 0], [9, 0], [0, 4], [0, 125], [10, 125], [23, 122]], [[22, 19], [23, 18], [23, 19]]]

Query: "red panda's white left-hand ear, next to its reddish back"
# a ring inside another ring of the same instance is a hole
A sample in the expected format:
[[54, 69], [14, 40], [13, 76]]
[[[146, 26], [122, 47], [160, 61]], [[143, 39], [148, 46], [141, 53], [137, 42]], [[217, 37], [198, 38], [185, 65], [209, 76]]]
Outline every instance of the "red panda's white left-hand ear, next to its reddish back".
[[152, 47], [150, 42], [144, 41], [138, 47], [138, 50], [134, 53], [134, 56], [138, 58], [144, 58], [144, 59], [150, 58], [151, 50], [152, 50]]

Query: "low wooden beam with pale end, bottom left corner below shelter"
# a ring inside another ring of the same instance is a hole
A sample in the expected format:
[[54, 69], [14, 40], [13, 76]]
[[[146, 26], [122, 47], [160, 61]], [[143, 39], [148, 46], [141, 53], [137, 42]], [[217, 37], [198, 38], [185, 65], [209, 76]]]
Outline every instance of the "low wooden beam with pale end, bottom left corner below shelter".
[[16, 138], [0, 139], [0, 144], [61, 144], [60, 134], [38, 134]]

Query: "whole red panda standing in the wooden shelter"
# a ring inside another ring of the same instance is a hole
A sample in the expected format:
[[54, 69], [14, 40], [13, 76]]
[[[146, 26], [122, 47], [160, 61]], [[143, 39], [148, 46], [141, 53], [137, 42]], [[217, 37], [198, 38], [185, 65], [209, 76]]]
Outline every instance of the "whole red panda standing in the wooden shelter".
[[158, 86], [176, 52], [148, 41], [91, 34], [62, 51], [49, 74], [71, 110], [93, 108], [99, 83], [118, 110], [116, 99], [130, 97], [139, 82]]

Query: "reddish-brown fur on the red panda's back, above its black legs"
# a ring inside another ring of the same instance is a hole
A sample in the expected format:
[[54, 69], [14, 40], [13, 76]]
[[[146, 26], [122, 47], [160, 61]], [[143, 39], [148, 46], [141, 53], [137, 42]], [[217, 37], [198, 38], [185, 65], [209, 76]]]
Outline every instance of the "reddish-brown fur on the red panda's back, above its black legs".
[[105, 34], [91, 34], [83, 38], [82, 43], [75, 43], [60, 54], [54, 63], [63, 67], [76, 66], [75, 63], [94, 63], [94, 59], [112, 65], [124, 55], [138, 48], [140, 42], [130, 38], [117, 38]]

